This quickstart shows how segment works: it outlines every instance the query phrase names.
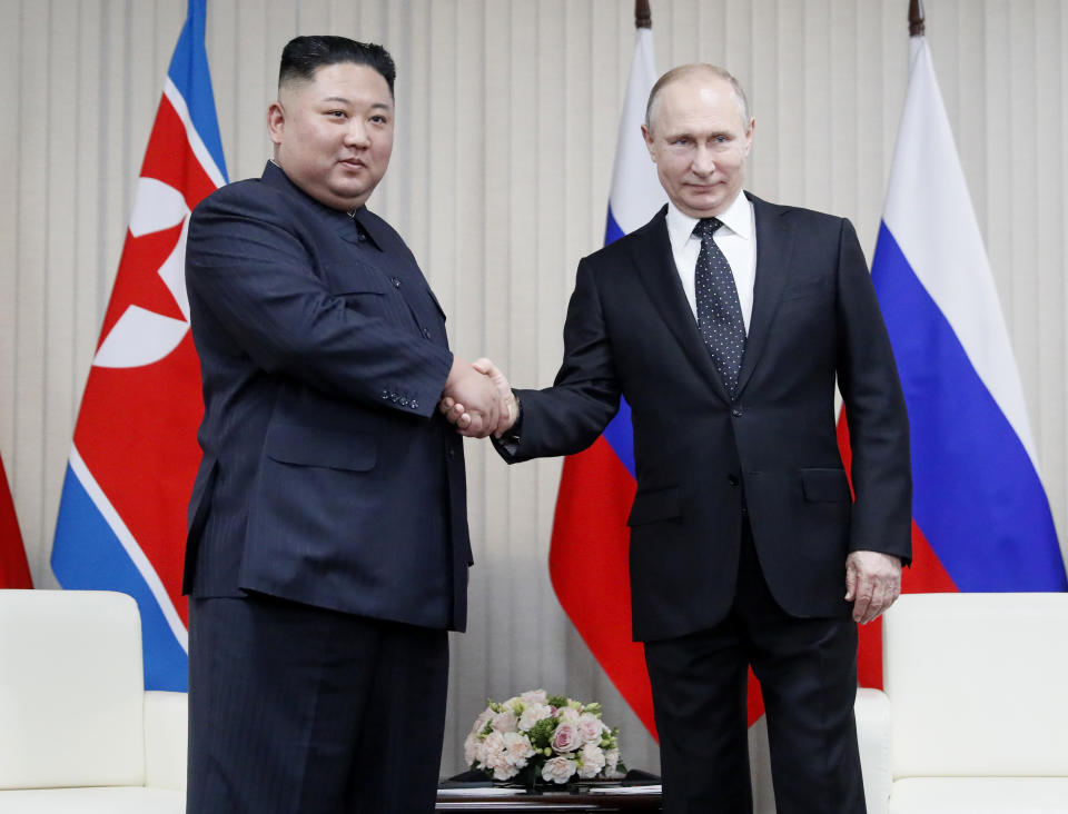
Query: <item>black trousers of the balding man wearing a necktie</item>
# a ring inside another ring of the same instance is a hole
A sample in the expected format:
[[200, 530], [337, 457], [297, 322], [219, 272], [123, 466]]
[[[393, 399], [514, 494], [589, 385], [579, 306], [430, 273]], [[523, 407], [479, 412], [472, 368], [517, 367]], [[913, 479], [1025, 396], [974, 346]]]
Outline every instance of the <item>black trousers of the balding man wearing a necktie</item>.
[[663, 811], [751, 814], [745, 692], [752, 665], [764, 698], [778, 813], [864, 814], [853, 718], [856, 623], [785, 614], [743, 525], [728, 617], [708, 631], [645, 643]]

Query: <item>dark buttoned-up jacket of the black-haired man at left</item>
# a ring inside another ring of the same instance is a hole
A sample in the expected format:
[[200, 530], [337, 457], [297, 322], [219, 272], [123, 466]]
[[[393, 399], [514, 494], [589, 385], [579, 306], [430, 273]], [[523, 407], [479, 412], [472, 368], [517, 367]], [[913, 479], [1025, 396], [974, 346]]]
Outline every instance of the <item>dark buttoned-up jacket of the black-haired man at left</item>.
[[197, 207], [186, 252], [205, 416], [185, 590], [463, 629], [452, 355], [404, 241], [268, 163]]

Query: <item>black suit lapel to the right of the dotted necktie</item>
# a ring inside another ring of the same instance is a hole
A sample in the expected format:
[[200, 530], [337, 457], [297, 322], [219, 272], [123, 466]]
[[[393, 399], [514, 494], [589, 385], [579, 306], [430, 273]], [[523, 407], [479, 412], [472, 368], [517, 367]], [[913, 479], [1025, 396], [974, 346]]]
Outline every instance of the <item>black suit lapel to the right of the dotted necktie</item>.
[[745, 355], [738, 377], [739, 395], [744, 390], [768, 343], [768, 334], [774, 321], [782, 289], [790, 277], [790, 260], [793, 252], [793, 228], [783, 218], [788, 211], [760, 198], [745, 193], [753, 202], [756, 222], [756, 280], [753, 286], [753, 314], [749, 320]]

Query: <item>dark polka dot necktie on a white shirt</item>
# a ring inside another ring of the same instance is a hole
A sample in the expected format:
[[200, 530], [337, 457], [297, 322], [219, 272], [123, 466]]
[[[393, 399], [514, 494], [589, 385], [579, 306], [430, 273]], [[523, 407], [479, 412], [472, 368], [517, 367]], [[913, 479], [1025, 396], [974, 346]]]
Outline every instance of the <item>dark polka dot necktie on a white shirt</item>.
[[731, 265], [712, 239], [721, 226], [718, 218], [704, 218], [693, 228], [693, 234], [701, 238], [694, 289], [698, 329], [733, 399], [738, 395], [738, 375], [745, 353], [745, 322], [742, 321], [742, 305], [738, 300]]

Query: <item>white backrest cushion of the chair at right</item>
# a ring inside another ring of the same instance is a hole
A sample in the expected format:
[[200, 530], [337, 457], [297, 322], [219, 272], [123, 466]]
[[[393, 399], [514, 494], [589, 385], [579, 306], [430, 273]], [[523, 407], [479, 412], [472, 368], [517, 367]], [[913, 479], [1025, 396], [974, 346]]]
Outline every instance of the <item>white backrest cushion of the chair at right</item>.
[[883, 623], [894, 777], [1068, 777], [1066, 632], [1068, 594], [901, 596]]

